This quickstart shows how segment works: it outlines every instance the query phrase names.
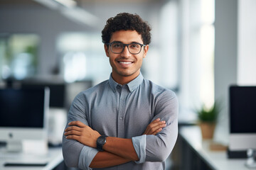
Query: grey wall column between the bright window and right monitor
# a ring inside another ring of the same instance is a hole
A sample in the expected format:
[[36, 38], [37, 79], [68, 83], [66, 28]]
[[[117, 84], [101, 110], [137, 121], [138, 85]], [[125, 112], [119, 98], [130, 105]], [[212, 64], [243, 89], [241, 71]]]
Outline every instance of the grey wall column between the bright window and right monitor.
[[223, 104], [215, 137], [228, 142], [228, 88], [237, 83], [238, 0], [215, 0], [215, 99]]

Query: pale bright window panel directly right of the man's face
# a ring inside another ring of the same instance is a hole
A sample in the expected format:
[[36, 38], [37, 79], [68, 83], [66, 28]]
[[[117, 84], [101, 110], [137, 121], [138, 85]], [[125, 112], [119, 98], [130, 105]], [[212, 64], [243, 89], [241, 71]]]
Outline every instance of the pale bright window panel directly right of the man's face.
[[[142, 74], [146, 79], [176, 91], [179, 86], [178, 3], [168, 1], [159, 11], [159, 26], [152, 26], [152, 42], [142, 64]], [[154, 32], [157, 28], [159, 33]]]

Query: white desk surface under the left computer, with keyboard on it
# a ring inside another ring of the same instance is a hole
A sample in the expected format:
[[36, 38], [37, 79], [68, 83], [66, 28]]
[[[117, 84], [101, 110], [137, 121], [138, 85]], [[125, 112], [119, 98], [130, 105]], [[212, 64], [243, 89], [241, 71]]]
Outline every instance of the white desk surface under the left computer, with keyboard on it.
[[[17, 160], [23, 162], [22, 159], [30, 159], [31, 162], [25, 161], [28, 164], [46, 164], [45, 166], [4, 166], [6, 163], [18, 163]], [[0, 155], [0, 169], [1, 170], [50, 170], [54, 169], [63, 162], [63, 154], [61, 147], [49, 148], [46, 155], [21, 155], [21, 154], [3, 154]]]

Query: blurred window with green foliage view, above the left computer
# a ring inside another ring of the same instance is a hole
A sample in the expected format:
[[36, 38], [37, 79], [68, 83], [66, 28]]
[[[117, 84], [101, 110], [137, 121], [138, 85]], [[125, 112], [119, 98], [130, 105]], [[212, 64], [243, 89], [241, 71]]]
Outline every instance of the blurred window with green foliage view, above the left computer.
[[39, 37], [35, 34], [0, 34], [2, 79], [25, 79], [36, 74]]

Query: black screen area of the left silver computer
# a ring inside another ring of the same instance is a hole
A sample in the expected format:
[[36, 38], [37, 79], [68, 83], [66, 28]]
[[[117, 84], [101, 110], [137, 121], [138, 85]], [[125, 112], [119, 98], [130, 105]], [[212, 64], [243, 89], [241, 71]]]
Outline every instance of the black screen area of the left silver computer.
[[0, 89], [0, 127], [43, 128], [44, 91]]

